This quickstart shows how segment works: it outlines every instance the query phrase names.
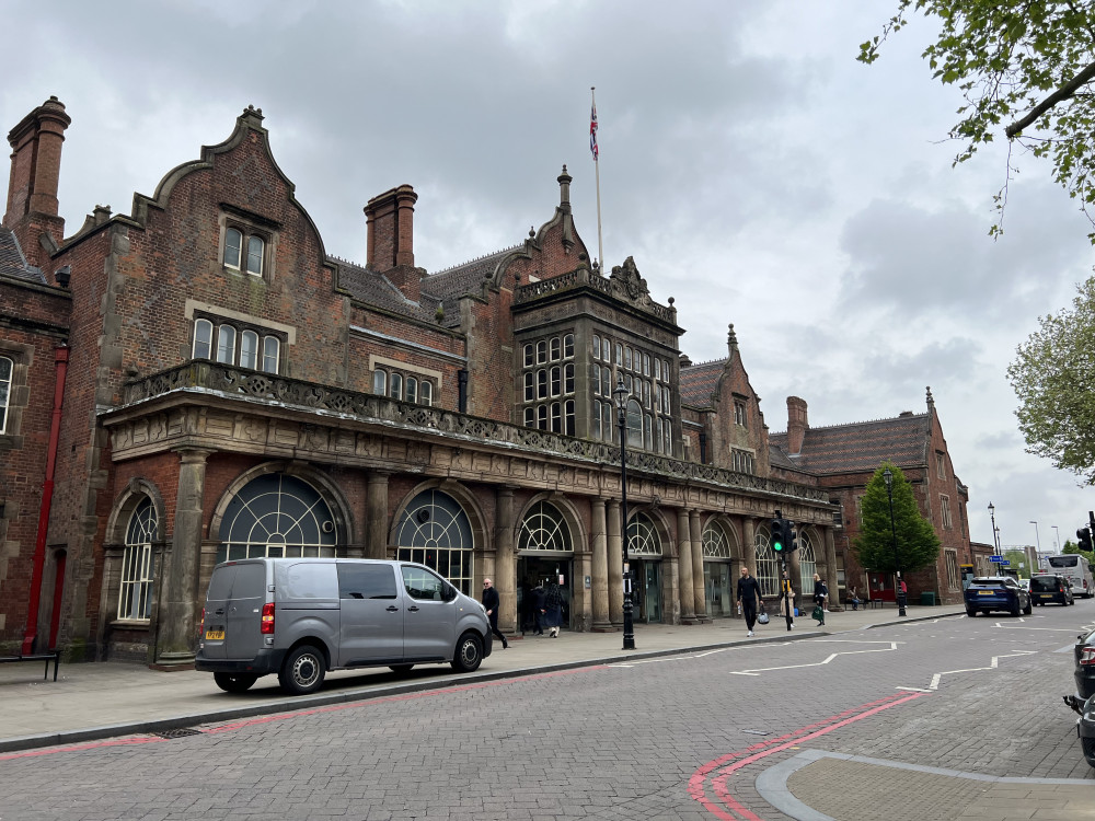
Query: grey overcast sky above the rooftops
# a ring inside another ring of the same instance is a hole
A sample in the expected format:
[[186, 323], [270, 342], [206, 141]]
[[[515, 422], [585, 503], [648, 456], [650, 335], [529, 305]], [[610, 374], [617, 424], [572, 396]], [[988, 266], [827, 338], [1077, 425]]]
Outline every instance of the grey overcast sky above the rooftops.
[[931, 385], [973, 540], [992, 541], [992, 501], [1004, 545], [1050, 550], [1095, 498], [1024, 452], [1005, 369], [1091, 275], [1091, 227], [1018, 155], [988, 236], [1004, 147], [952, 169], [960, 100], [920, 57], [934, 24], [854, 59], [896, 4], [12, 0], [27, 48], [0, 127], [66, 104], [71, 233], [96, 204], [128, 213], [253, 104], [327, 253], [364, 263], [362, 207], [408, 183], [415, 262], [436, 271], [545, 222], [563, 163], [596, 255], [596, 85], [606, 262], [634, 256], [675, 298], [682, 351], [726, 356], [734, 323], [772, 431], [788, 395], [819, 427], [923, 413]]

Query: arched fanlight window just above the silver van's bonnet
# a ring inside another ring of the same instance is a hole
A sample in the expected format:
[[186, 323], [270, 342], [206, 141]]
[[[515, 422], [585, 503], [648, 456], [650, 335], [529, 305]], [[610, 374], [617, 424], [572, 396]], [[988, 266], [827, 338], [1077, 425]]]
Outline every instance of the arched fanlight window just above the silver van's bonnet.
[[395, 528], [396, 558], [437, 570], [464, 593], [471, 592], [471, 522], [460, 502], [440, 490], [411, 500]]

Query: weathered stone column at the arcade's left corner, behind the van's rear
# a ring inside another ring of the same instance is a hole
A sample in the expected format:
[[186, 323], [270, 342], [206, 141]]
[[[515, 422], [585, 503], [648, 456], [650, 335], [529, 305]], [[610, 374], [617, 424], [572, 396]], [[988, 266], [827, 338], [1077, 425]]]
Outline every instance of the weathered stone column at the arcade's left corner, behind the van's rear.
[[175, 523], [168, 560], [163, 600], [159, 608], [160, 634], [155, 666], [174, 668], [194, 663], [197, 648], [196, 614], [200, 609], [198, 570], [201, 558], [201, 500], [206, 459], [211, 451], [178, 451], [178, 490]]

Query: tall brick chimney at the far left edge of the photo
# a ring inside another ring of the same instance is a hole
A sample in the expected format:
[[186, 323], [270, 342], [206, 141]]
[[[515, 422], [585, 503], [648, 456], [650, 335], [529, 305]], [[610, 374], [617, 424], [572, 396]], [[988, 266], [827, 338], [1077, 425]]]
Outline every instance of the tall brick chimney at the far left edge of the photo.
[[61, 143], [71, 122], [65, 104], [49, 97], [8, 134], [11, 178], [3, 224], [19, 238], [27, 262], [39, 268], [48, 266], [38, 238], [47, 233], [59, 244], [65, 236], [65, 220], [57, 213], [57, 185]]

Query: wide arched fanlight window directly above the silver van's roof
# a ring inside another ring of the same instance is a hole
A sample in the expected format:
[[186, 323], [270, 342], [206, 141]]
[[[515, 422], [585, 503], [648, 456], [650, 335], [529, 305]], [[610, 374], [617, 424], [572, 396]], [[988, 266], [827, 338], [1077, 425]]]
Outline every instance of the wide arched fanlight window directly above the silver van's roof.
[[255, 556], [334, 556], [331, 508], [310, 484], [269, 473], [249, 482], [228, 502], [217, 560]]

